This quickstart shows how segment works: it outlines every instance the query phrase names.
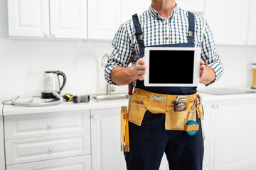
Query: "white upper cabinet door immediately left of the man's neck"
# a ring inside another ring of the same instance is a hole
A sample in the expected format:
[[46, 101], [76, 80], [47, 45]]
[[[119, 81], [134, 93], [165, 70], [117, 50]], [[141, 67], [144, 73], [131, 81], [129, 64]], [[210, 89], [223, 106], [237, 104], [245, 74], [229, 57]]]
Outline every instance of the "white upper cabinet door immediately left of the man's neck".
[[150, 5], [151, 0], [122, 0], [122, 23], [132, 19], [135, 13], [142, 14]]

